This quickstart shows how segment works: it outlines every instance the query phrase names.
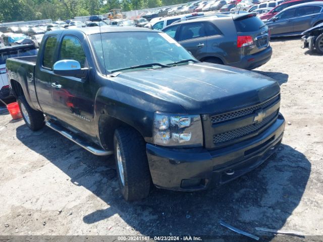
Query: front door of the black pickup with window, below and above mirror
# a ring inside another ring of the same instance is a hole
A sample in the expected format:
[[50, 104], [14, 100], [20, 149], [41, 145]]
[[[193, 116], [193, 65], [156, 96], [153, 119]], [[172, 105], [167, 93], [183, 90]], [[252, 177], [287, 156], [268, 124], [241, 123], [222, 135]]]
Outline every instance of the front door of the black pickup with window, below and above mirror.
[[[74, 59], [80, 63], [81, 68], [88, 67], [81, 42], [75, 36], [62, 36], [58, 61], [62, 59]], [[55, 105], [53, 114], [63, 122], [63, 125], [94, 137], [93, 105], [96, 92], [93, 91], [88, 79], [52, 74], [51, 99]]]

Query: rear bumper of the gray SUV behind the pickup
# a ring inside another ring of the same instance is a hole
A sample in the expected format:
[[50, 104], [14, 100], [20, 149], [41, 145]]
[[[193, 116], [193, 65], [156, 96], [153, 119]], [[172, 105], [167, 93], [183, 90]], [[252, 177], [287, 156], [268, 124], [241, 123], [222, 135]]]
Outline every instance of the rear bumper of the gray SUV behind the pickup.
[[259, 51], [255, 54], [249, 54], [244, 56], [240, 62], [228, 63], [228, 65], [246, 70], [252, 70], [267, 63], [271, 59], [272, 54], [273, 49], [271, 46], [268, 46], [264, 50]]

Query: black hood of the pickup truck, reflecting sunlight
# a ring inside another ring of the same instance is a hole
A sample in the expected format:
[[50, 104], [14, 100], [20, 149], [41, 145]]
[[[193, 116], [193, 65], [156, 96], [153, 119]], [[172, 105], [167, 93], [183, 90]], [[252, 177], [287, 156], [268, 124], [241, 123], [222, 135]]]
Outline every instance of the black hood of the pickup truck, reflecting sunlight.
[[180, 104], [191, 114], [236, 110], [280, 92], [272, 78], [209, 63], [127, 72], [115, 78], [120, 84]]

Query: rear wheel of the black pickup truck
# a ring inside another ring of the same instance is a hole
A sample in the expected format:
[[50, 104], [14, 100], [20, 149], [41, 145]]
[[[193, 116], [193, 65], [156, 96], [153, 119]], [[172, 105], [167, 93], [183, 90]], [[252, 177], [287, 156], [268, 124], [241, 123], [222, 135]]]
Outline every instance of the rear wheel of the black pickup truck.
[[25, 120], [26, 125], [28, 126], [29, 129], [32, 131], [40, 130], [41, 128], [44, 127], [45, 122], [44, 122], [44, 115], [40, 111], [36, 111], [32, 109], [26, 98], [24, 96], [19, 96], [18, 97], [18, 104], [19, 108], [22, 114], [22, 117]]

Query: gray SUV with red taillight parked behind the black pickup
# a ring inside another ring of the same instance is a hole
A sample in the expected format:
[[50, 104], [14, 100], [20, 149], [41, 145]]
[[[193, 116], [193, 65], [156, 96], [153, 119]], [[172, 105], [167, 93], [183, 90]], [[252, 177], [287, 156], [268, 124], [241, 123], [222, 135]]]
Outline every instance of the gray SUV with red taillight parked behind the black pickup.
[[256, 14], [196, 18], [162, 31], [201, 62], [251, 70], [268, 62], [273, 52], [268, 28]]

